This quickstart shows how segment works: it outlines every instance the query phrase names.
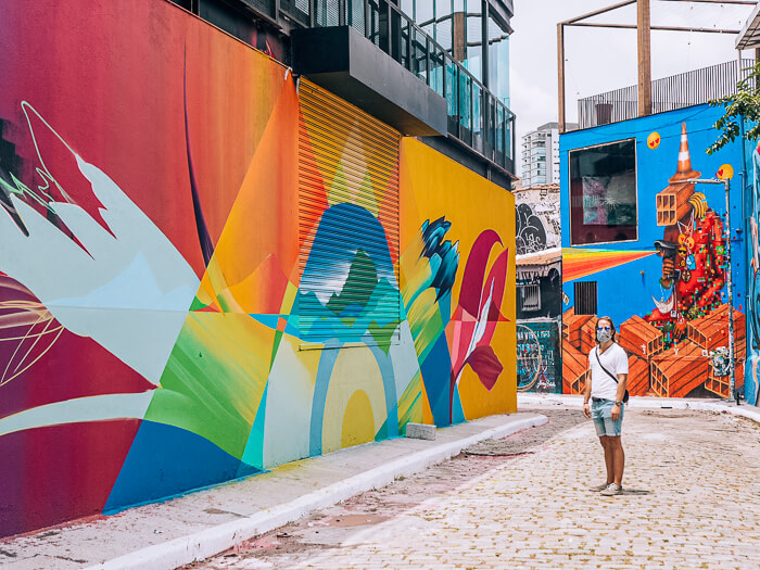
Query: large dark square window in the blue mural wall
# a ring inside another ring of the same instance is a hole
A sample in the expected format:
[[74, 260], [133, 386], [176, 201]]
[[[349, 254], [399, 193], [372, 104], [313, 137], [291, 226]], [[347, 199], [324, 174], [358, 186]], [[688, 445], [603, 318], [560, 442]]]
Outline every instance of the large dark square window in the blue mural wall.
[[569, 155], [571, 244], [637, 239], [635, 139]]

